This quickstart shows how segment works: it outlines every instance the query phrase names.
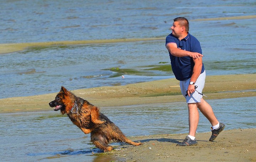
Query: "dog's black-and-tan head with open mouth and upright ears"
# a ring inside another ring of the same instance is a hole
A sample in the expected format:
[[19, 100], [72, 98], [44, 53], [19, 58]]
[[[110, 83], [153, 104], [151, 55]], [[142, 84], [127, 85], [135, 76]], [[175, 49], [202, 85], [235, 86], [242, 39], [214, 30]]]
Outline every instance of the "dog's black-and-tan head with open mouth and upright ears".
[[[55, 97], [55, 100], [49, 103], [50, 107], [55, 107], [53, 110], [58, 111], [60, 110], [62, 114], [68, 112], [69, 108], [72, 108], [72, 100], [71, 100], [72, 93], [69, 92], [65, 87], [61, 87], [60, 92]], [[70, 107], [71, 106], [71, 107]]]

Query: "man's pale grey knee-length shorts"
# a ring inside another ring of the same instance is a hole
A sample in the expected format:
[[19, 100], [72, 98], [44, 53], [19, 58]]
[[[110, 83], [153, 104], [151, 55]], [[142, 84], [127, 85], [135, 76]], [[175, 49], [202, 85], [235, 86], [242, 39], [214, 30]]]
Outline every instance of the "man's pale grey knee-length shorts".
[[[197, 81], [195, 83], [195, 86], [197, 86], [196, 90], [199, 93], [202, 93], [202, 91], [203, 91], [205, 79], [206, 79], [206, 72], [204, 70], [204, 72], [199, 75], [199, 77], [197, 78]], [[190, 94], [190, 97], [186, 96], [186, 91], [187, 91], [189, 82], [190, 82], [190, 79], [180, 81], [180, 88], [181, 88], [182, 95], [186, 98], [187, 103], [201, 102], [201, 98], [203, 96], [202, 96], [202, 94], [199, 94], [197, 91], [194, 91], [192, 94]]]

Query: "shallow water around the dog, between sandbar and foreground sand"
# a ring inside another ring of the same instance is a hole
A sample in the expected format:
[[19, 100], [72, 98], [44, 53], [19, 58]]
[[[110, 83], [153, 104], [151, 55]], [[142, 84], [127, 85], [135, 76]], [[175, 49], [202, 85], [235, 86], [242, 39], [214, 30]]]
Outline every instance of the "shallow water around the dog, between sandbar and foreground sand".
[[[246, 97], [208, 100], [208, 103], [218, 120], [225, 123], [225, 130], [229, 130], [256, 128], [255, 100], [256, 97]], [[184, 102], [105, 107], [101, 112], [128, 137], [188, 132]], [[93, 156], [101, 150], [93, 148], [90, 135], [82, 133], [66, 115], [59, 113], [1, 114], [1, 161], [111, 161], [103, 160], [104, 156]], [[197, 132], [210, 132], [210, 123], [201, 113]]]

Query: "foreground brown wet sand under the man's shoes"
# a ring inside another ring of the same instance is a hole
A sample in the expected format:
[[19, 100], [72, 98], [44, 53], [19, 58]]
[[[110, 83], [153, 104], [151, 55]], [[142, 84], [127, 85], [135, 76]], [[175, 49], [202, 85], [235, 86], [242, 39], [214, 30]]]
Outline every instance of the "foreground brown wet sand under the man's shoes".
[[[171, 162], [171, 161], [256, 161], [256, 129], [222, 131], [210, 142], [211, 132], [198, 133], [196, 146], [176, 146], [187, 134], [166, 134], [135, 137], [140, 146], [126, 145], [105, 153], [106, 161]], [[104, 157], [104, 158], [103, 158]], [[101, 160], [102, 160], [101, 159]]]

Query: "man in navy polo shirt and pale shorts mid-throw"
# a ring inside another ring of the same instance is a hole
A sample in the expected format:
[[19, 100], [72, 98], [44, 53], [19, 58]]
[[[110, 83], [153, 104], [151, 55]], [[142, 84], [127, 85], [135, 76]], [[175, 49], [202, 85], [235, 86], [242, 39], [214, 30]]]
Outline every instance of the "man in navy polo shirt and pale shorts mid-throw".
[[176, 79], [180, 81], [181, 93], [188, 104], [189, 133], [177, 146], [197, 145], [195, 136], [199, 122], [198, 109], [212, 124], [212, 136], [209, 141], [213, 141], [225, 125], [219, 123], [212, 107], [203, 99], [202, 91], [206, 72], [202, 62], [200, 43], [188, 33], [189, 23], [185, 17], [175, 18], [171, 29], [172, 33], [166, 37], [165, 46], [169, 51], [172, 71]]

